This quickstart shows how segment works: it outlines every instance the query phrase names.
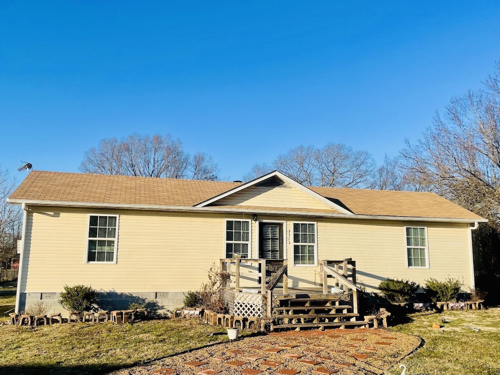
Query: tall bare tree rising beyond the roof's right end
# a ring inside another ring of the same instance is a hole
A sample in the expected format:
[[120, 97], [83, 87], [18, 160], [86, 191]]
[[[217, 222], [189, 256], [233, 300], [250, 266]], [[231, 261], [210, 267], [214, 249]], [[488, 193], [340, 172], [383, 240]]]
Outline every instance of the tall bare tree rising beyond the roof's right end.
[[[500, 66], [500, 65], [499, 65]], [[497, 70], [498, 69], [497, 67]], [[451, 100], [416, 144], [401, 151], [413, 183], [500, 224], [499, 72], [485, 89]]]

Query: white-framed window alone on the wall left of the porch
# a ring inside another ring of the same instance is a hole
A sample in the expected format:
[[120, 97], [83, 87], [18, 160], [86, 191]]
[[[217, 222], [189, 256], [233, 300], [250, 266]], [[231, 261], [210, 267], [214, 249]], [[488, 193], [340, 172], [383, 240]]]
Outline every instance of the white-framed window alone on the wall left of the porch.
[[87, 263], [116, 263], [118, 215], [88, 215]]

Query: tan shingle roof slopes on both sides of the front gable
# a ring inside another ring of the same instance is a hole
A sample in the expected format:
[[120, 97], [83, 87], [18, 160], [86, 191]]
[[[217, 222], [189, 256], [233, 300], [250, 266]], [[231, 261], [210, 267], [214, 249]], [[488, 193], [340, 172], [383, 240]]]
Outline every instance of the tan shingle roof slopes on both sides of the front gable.
[[[10, 195], [9, 199], [146, 206], [193, 206], [239, 185], [241, 182], [33, 170]], [[310, 187], [310, 189], [357, 215], [458, 218], [470, 219], [471, 221], [482, 219], [434, 193], [332, 187]], [[240, 208], [250, 207], [240, 206]], [[259, 208], [287, 210], [279, 207]], [[324, 213], [327, 213], [326, 211]], [[328, 212], [334, 213], [335, 211]]]

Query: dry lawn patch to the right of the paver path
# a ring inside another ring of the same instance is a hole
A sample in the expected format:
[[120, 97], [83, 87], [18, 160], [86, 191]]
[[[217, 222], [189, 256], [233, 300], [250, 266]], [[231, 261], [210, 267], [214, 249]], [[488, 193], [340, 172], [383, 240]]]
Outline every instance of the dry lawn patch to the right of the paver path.
[[[500, 308], [419, 312], [409, 318], [411, 321], [391, 327], [424, 339], [424, 345], [402, 361], [406, 373], [500, 374]], [[440, 328], [432, 328], [432, 323]], [[400, 373], [399, 368], [387, 372]]]

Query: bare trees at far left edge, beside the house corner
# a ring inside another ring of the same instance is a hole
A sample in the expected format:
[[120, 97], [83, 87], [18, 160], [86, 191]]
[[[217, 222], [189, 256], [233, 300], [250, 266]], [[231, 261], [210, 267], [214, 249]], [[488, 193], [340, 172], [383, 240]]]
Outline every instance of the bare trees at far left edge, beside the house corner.
[[7, 170], [0, 167], [0, 268], [16, 257], [17, 240], [20, 238], [22, 215], [19, 206], [6, 202], [16, 183]]

